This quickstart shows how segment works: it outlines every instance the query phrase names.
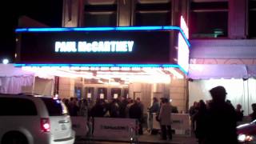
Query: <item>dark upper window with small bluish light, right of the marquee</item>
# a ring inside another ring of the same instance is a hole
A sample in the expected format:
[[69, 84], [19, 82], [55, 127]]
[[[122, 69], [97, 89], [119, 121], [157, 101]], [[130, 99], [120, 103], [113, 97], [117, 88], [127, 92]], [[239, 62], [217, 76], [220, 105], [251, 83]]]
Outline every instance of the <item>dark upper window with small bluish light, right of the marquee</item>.
[[228, 2], [191, 2], [190, 38], [226, 38]]

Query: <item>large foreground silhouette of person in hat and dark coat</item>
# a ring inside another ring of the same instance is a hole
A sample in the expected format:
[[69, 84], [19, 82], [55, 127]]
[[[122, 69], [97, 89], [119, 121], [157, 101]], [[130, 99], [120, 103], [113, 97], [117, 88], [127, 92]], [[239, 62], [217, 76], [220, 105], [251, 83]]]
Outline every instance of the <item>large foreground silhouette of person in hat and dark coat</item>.
[[233, 106], [225, 102], [226, 90], [217, 86], [210, 90], [213, 98], [207, 110], [206, 143], [237, 144], [236, 113]]

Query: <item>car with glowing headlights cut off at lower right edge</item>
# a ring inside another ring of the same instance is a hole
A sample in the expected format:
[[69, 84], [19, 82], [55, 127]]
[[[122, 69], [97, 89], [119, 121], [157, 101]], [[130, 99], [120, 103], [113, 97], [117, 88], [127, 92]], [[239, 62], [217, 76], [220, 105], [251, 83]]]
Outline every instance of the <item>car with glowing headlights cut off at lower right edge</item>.
[[238, 142], [256, 143], [256, 120], [237, 127]]

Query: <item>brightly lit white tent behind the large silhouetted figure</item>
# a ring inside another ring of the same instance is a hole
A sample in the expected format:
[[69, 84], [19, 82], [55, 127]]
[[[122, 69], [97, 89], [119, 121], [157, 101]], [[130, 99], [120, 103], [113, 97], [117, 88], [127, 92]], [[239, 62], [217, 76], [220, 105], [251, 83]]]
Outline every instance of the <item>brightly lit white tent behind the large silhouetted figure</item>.
[[[224, 86], [226, 98], [234, 106], [242, 105], [244, 114], [250, 114], [251, 104], [256, 102], [256, 65], [213, 65], [191, 64], [188, 77], [190, 102], [210, 100], [209, 90], [215, 86]], [[242, 79], [244, 78], [244, 79]]]

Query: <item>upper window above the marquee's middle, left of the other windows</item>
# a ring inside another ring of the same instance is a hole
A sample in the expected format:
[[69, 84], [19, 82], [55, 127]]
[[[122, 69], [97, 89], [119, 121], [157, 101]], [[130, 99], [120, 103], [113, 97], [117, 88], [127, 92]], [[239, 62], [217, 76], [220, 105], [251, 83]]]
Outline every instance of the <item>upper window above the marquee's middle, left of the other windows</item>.
[[117, 26], [117, 2], [114, 0], [87, 0], [84, 12], [84, 26]]

